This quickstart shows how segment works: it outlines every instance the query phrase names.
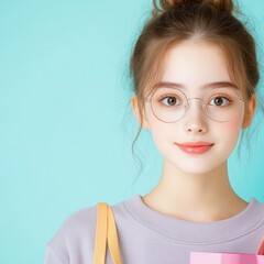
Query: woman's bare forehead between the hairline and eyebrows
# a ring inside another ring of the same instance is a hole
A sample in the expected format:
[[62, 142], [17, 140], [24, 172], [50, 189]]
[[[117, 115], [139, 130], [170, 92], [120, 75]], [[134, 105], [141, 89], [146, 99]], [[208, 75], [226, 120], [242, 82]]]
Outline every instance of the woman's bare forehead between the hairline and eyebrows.
[[201, 41], [185, 41], [166, 54], [162, 81], [179, 82], [199, 89], [210, 82], [230, 81], [220, 47]]

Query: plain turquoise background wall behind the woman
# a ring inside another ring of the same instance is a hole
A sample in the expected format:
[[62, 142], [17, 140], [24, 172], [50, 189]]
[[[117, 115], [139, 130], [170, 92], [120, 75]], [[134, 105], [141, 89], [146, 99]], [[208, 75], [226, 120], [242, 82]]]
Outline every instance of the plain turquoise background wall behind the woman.
[[[43, 263], [46, 242], [74, 211], [143, 195], [158, 182], [150, 133], [136, 147], [139, 178], [131, 154], [138, 123], [128, 62], [151, 4], [0, 0], [1, 264]], [[243, 1], [242, 10], [263, 46], [264, 2]], [[258, 57], [263, 65], [260, 50]], [[235, 191], [264, 201], [260, 118], [250, 148], [245, 141], [229, 165]]]

